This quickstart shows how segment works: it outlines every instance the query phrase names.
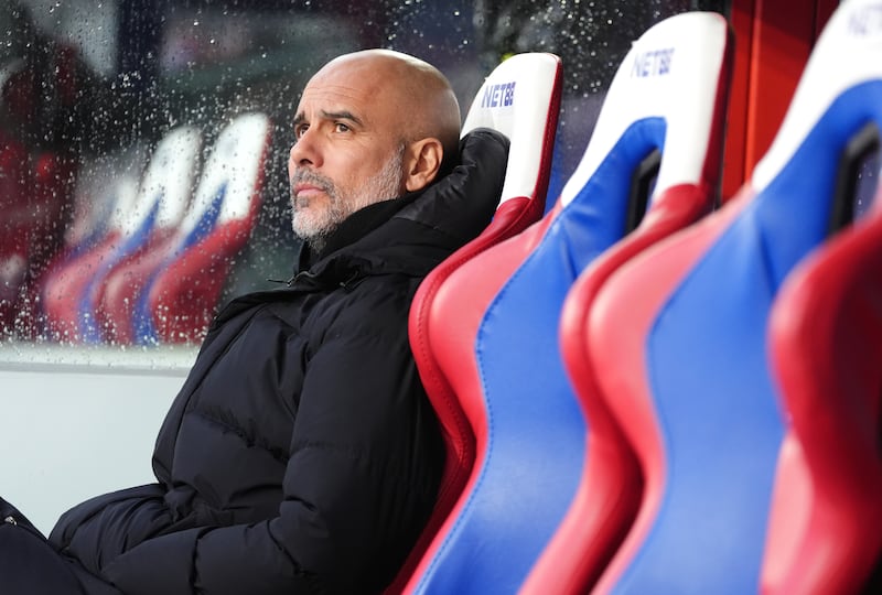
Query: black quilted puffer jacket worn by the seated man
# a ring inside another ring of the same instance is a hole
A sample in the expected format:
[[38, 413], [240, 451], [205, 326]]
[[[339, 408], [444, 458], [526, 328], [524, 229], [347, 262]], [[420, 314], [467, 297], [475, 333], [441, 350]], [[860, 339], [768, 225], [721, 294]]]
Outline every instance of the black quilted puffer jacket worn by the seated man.
[[353, 215], [337, 244], [370, 230], [224, 309], [157, 440], [159, 483], [74, 508], [53, 545], [128, 594], [381, 589], [443, 464], [410, 301], [490, 223], [506, 152], [494, 132], [469, 134], [450, 175]]

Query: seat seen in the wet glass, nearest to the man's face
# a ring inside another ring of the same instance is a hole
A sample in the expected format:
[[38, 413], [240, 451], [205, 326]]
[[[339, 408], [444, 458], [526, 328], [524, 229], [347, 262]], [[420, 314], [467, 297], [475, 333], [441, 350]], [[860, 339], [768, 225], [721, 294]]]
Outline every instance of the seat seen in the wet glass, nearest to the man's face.
[[204, 336], [255, 226], [269, 141], [263, 113], [237, 116], [220, 131], [173, 239], [132, 271], [144, 288], [132, 316], [136, 342], [197, 343]]

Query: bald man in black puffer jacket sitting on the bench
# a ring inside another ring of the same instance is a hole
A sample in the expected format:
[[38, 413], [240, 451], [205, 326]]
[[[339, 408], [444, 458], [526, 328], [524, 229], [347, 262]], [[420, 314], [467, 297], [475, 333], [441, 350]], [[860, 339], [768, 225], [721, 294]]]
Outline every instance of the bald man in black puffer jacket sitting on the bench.
[[47, 541], [0, 499], [0, 593], [377, 593], [395, 577], [444, 464], [410, 302], [490, 223], [507, 140], [460, 141], [444, 76], [379, 50], [319, 71], [292, 126], [297, 273], [218, 314], [160, 429], [155, 483], [75, 507]]

